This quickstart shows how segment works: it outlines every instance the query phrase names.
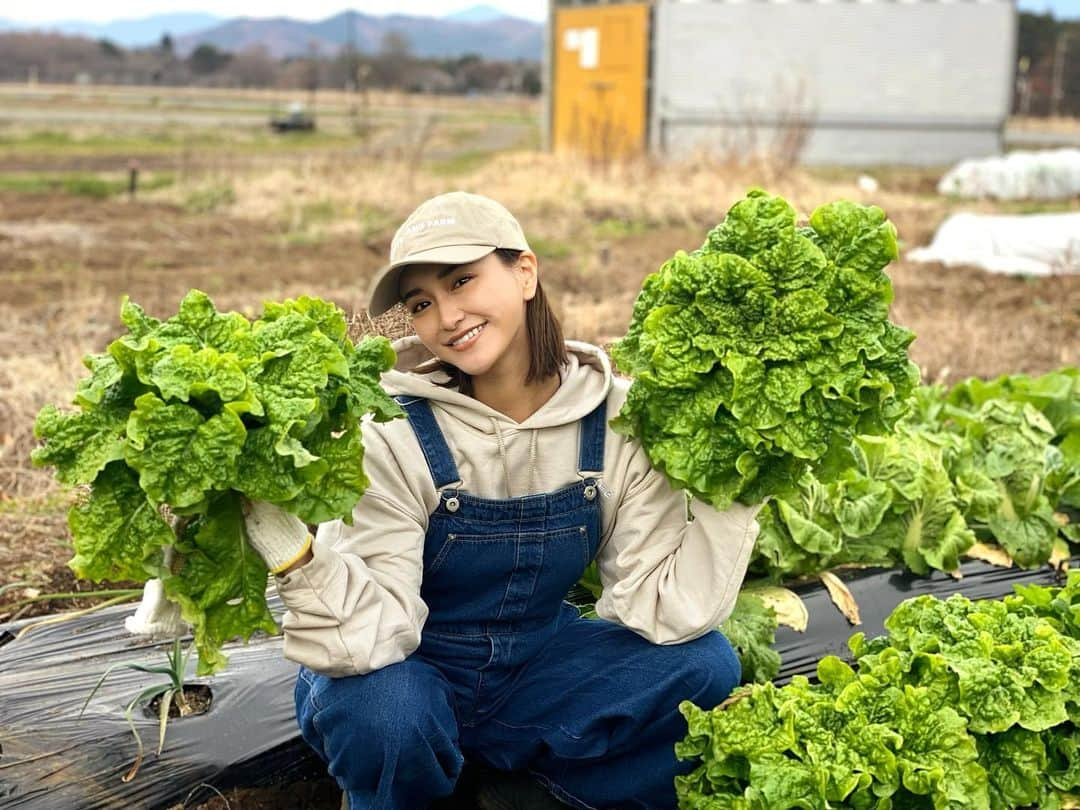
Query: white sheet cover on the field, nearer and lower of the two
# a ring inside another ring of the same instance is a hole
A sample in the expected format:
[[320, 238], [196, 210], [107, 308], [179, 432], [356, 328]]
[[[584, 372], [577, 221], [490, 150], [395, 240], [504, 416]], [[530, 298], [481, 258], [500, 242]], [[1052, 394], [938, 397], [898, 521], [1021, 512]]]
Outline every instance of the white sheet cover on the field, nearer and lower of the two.
[[1080, 272], [1080, 213], [954, 214], [929, 247], [910, 251], [907, 258], [1018, 275]]

